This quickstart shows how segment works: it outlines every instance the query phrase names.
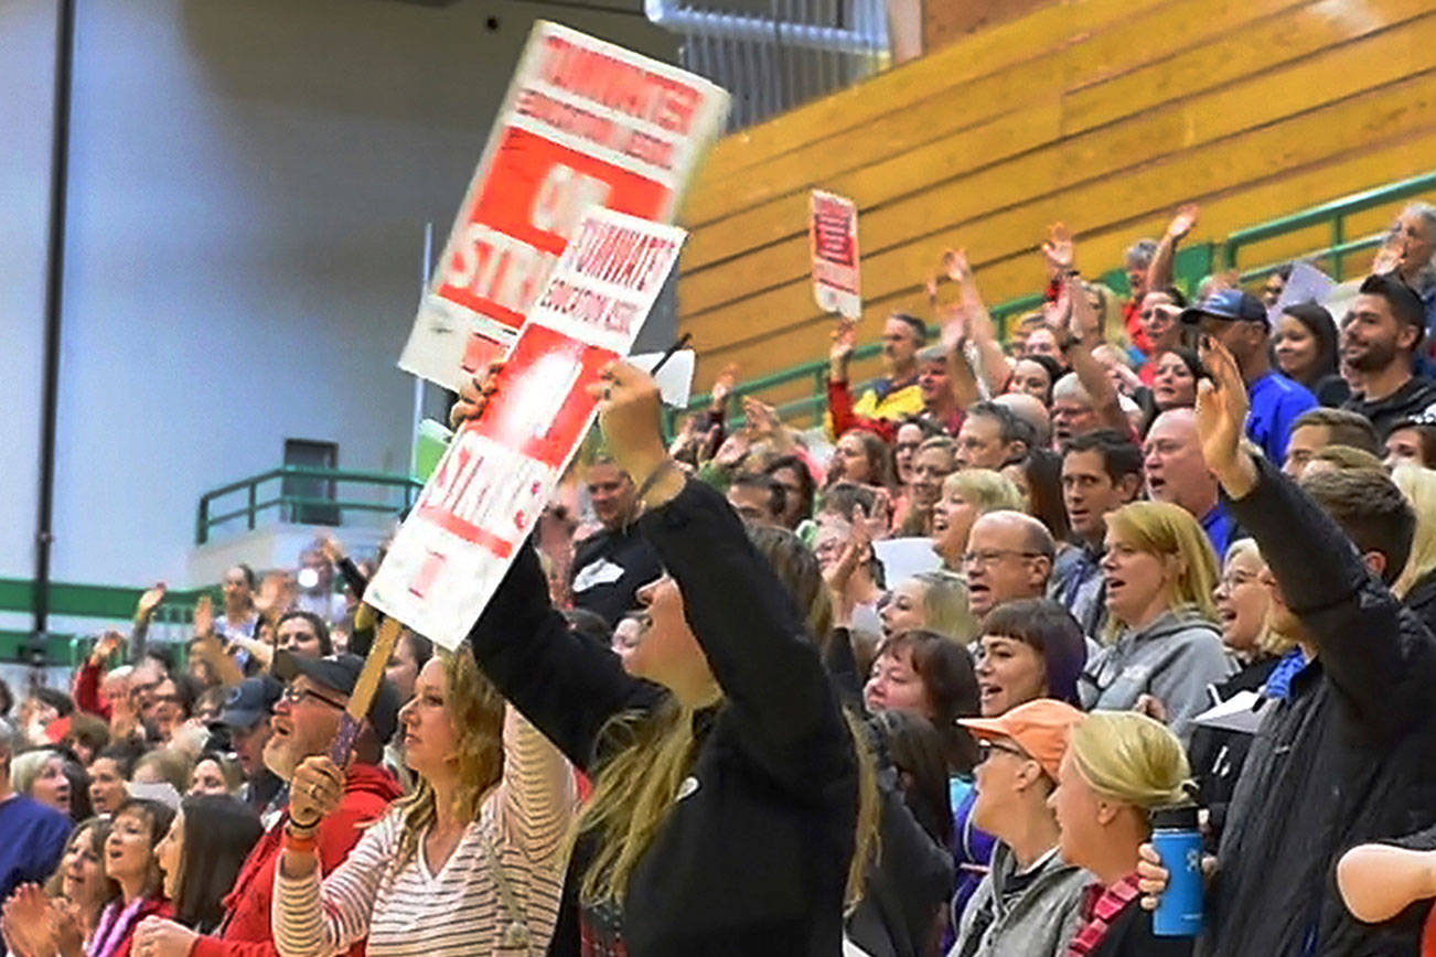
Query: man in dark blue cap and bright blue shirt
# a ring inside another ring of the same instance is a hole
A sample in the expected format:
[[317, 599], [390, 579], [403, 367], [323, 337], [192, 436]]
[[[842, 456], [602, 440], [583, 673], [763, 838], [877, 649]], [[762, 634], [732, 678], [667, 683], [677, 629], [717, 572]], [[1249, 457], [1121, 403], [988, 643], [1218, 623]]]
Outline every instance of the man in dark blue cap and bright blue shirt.
[[1183, 310], [1182, 321], [1199, 327], [1236, 357], [1251, 402], [1246, 438], [1268, 461], [1285, 462], [1291, 426], [1302, 412], [1317, 406], [1317, 397], [1271, 367], [1271, 323], [1261, 300], [1236, 288], [1218, 290]]

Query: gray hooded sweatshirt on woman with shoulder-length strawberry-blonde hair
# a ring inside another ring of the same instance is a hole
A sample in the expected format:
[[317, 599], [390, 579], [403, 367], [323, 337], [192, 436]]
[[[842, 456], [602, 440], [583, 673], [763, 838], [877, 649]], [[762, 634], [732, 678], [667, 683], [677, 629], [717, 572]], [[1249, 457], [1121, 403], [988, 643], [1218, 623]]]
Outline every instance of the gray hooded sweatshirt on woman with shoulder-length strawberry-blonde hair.
[[1077, 683], [1083, 709], [1124, 712], [1142, 694], [1162, 702], [1167, 725], [1186, 745], [1190, 722], [1212, 706], [1206, 689], [1236, 673], [1216, 624], [1192, 608], [1167, 611], [1160, 618], [1117, 640], [1096, 659]]

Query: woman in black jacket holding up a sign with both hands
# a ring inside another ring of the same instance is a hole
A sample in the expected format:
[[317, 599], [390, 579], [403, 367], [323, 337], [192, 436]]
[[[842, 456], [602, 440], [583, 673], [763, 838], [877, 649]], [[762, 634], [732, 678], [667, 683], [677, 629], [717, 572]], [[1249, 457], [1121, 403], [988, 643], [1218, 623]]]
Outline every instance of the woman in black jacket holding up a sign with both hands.
[[669, 461], [653, 380], [619, 363], [599, 397], [668, 570], [638, 593], [638, 646], [620, 663], [570, 633], [527, 545], [470, 636], [593, 776], [550, 953], [837, 954], [872, 832], [860, 750], [793, 600], [724, 498]]

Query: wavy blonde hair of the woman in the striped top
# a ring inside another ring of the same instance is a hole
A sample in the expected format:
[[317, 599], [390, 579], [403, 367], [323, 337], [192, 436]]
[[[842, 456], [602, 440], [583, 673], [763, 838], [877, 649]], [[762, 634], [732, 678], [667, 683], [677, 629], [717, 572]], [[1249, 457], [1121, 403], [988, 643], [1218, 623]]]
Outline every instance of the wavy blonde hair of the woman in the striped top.
[[[437, 650], [435, 654], [444, 663], [448, 686], [444, 704], [458, 736], [454, 760], [460, 785], [454, 793], [454, 819], [477, 821], [484, 798], [504, 773], [504, 697], [478, 670], [467, 647]], [[422, 776], [418, 781], [418, 788], [393, 802], [404, 812], [404, 829], [388, 869], [391, 878], [414, 859], [424, 832], [438, 818], [434, 785]]]

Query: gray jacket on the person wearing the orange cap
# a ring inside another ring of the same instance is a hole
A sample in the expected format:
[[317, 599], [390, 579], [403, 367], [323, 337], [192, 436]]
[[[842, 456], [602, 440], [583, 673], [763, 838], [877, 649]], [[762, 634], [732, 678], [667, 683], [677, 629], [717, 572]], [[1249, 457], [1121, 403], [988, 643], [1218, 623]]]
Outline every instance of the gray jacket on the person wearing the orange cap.
[[1037, 875], [1012, 900], [1004, 885], [1017, 874], [1017, 858], [998, 842], [992, 869], [972, 892], [948, 957], [1060, 957], [1077, 933], [1083, 890], [1096, 878], [1067, 864], [1054, 849]]

